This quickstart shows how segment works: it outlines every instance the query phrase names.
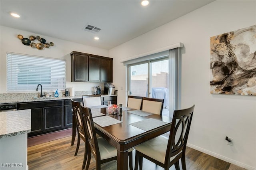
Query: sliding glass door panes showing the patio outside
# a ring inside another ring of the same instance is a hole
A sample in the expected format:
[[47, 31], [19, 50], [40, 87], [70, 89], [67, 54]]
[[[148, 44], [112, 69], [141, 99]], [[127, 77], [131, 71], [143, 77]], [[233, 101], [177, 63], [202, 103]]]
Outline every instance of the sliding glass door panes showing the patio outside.
[[129, 95], [164, 99], [163, 115], [169, 115], [169, 59], [164, 57], [128, 65]]

